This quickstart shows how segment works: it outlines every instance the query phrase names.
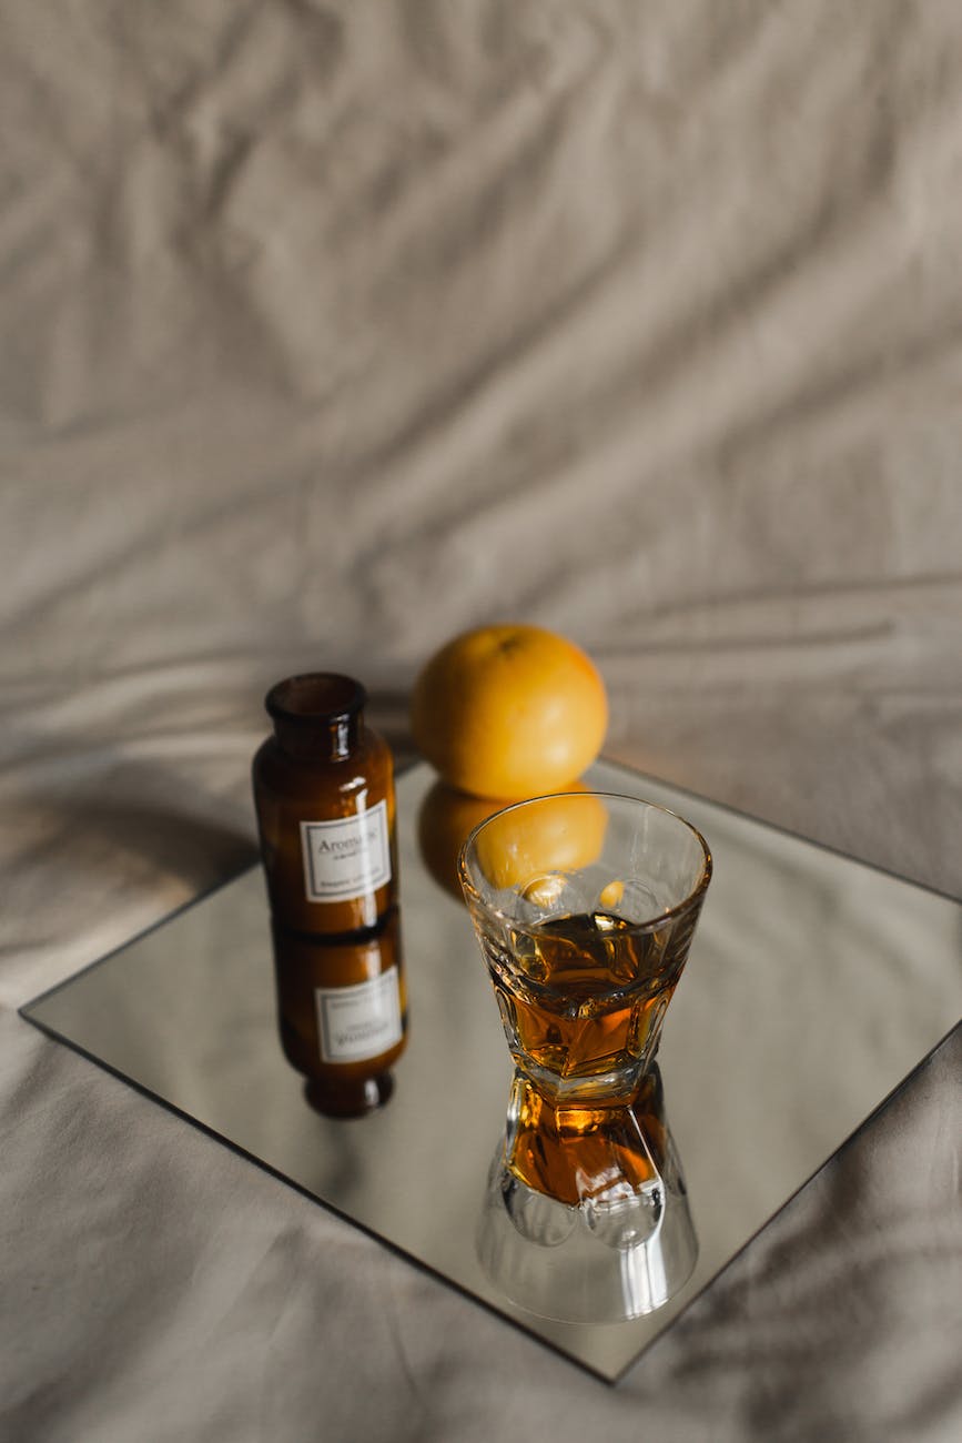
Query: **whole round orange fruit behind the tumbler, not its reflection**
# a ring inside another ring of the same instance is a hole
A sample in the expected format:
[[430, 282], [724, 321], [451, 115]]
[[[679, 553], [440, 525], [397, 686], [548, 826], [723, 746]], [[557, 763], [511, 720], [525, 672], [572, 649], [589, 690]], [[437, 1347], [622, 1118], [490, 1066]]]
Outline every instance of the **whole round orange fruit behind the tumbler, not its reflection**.
[[558, 791], [601, 749], [604, 683], [574, 642], [541, 626], [480, 626], [427, 662], [411, 696], [414, 742], [475, 797]]

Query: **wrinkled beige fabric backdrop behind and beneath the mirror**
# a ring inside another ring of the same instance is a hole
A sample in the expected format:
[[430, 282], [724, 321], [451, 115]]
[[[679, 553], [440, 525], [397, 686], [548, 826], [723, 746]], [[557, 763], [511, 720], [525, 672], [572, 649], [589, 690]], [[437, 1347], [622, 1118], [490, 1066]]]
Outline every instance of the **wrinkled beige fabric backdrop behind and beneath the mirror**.
[[250, 853], [261, 696], [564, 631], [946, 892], [962, 10], [9, 0], [0, 1434], [949, 1440], [959, 1048], [607, 1391], [16, 1016]]

